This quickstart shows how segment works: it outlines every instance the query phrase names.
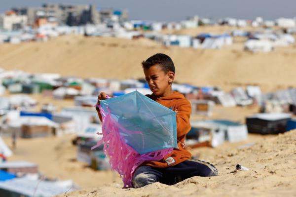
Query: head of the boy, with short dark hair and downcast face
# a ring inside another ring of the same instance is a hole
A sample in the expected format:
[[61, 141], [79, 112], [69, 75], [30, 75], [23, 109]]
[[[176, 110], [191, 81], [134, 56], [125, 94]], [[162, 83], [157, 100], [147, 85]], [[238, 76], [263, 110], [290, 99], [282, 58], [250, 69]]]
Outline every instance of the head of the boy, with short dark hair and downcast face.
[[150, 90], [155, 96], [164, 97], [172, 93], [175, 66], [169, 56], [157, 53], [143, 61], [142, 66]]

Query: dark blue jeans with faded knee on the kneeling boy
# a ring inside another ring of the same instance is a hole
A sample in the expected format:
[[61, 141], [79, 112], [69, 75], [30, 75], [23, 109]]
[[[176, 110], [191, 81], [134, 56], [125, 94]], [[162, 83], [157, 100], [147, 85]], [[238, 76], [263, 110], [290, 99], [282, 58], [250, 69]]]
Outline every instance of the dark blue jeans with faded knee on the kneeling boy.
[[207, 177], [217, 175], [218, 170], [211, 163], [198, 159], [189, 159], [166, 168], [140, 166], [134, 173], [133, 185], [134, 188], [141, 188], [155, 182], [174, 185], [193, 176]]

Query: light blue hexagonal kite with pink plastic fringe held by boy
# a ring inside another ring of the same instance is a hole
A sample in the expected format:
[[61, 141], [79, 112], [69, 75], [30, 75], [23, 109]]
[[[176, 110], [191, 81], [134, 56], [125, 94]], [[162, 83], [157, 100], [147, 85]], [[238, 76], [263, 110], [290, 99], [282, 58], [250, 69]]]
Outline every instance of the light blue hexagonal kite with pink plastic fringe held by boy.
[[101, 100], [102, 139], [111, 169], [124, 187], [132, 187], [133, 173], [144, 161], [160, 160], [177, 148], [176, 112], [134, 91]]

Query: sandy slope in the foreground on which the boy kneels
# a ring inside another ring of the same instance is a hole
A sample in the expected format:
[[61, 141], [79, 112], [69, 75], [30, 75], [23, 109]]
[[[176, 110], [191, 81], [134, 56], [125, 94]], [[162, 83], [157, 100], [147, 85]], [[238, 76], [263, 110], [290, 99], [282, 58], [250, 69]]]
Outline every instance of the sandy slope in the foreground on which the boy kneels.
[[[198, 149], [199, 151], [199, 149]], [[212, 162], [219, 170], [217, 177], [192, 177], [174, 186], [160, 183], [140, 189], [121, 189], [118, 183], [105, 184], [92, 190], [81, 190], [67, 197], [207, 197], [278, 196], [296, 194], [296, 130], [267, 138], [251, 147], [220, 148]], [[206, 159], [207, 155], [201, 155]], [[208, 159], [208, 158], [207, 158]], [[240, 163], [250, 171], [234, 171]], [[96, 180], [93, 180], [96, 181]], [[100, 182], [100, 180], [97, 180]], [[63, 197], [61, 195], [61, 197]]]

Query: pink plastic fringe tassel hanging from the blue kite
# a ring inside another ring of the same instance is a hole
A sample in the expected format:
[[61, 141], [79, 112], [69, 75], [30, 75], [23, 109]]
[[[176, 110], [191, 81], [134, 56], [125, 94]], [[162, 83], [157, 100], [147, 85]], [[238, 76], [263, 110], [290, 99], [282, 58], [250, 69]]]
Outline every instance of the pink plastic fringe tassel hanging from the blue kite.
[[130, 134], [142, 134], [142, 132], [126, 130], [111, 117], [111, 112], [107, 113], [101, 107], [100, 112], [103, 120], [103, 138], [91, 149], [93, 150], [104, 143], [104, 153], [110, 158], [109, 162], [111, 169], [116, 170], [122, 178], [123, 187], [133, 187], [133, 174], [136, 168], [144, 161], [160, 160], [173, 151], [173, 148], [170, 148], [140, 155], [125, 143], [123, 137], [119, 133], [119, 128], [121, 131]]

